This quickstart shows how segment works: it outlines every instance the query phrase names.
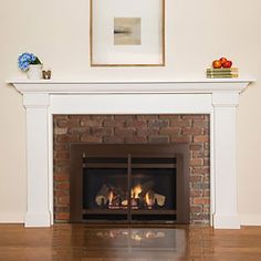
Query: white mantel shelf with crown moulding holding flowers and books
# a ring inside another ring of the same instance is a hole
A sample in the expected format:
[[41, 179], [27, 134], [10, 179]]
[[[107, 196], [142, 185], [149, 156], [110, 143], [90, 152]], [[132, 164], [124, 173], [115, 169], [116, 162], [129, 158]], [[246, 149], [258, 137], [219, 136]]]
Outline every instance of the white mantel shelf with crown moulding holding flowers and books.
[[70, 81], [70, 80], [11, 80], [7, 83], [14, 85], [20, 93], [49, 94], [127, 94], [127, 93], [241, 93], [254, 82], [253, 79], [201, 79], [185, 81]]

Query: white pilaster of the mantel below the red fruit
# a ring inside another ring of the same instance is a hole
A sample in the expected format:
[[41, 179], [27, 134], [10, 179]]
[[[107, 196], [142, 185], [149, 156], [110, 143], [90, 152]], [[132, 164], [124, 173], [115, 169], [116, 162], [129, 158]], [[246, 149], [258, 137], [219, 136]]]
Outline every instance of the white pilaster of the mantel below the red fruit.
[[237, 211], [236, 107], [238, 92], [212, 94], [215, 228], [240, 228]]

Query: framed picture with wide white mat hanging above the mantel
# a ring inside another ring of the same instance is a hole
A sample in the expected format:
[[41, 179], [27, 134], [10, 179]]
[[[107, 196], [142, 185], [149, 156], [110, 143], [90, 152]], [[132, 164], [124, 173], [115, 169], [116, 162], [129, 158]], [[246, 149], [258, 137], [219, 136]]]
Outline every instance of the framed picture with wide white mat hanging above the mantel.
[[165, 66], [165, 0], [90, 0], [91, 66]]

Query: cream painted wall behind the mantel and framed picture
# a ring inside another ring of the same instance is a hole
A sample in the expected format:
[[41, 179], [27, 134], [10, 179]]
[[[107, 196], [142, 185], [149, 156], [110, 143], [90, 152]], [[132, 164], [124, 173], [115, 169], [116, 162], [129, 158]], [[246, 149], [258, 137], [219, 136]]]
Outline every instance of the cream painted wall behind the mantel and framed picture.
[[[4, 81], [25, 77], [17, 67], [24, 51], [40, 56], [55, 79], [197, 79], [213, 59], [228, 56], [241, 75], [261, 77], [261, 1], [166, 0], [166, 67], [90, 67], [87, 0], [9, 0], [0, 9], [0, 221], [25, 211], [25, 126], [21, 95]], [[259, 81], [240, 97], [238, 191], [242, 223], [261, 225], [261, 91]]]

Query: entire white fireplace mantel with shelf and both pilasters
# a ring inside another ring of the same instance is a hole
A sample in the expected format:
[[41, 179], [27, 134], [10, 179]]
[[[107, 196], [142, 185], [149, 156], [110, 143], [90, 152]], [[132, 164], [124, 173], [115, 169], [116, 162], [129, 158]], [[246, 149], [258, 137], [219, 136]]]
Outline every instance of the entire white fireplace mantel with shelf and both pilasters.
[[210, 205], [215, 228], [240, 228], [236, 108], [250, 79], [173, 82], [9, 81], [27, 109], [27, 227], [53, 223], [55, 114], [210, 114]]

